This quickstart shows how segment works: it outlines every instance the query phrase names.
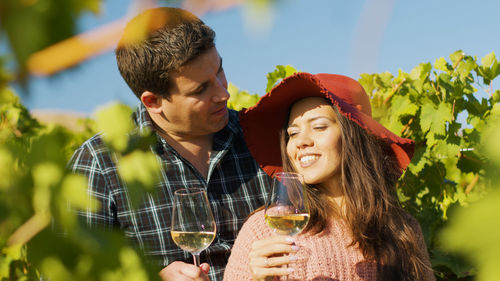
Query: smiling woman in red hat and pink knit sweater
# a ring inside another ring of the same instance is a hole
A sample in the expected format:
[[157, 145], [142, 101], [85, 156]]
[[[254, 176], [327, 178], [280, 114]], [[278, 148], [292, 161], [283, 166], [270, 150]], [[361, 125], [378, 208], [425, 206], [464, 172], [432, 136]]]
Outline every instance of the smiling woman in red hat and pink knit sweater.
[[240, 122], [268, 174], [304, 176], [310, 220], [299, 235], [284, 237], [266, 226], [263, 210], [255, 212], [224, 280], [435, 280], [420, 226], [395, 190], [414, 143], [371, 118], [359, 83], [298, 73], [242, 112]]

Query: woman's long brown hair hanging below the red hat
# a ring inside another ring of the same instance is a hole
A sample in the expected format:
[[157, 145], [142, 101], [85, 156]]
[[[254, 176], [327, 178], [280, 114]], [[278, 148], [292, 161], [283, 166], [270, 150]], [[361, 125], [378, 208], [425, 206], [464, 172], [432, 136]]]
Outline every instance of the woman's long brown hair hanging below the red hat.
[[[332, 213], [336, 214], [351, 231], [351, 246], [358, 245], [365, 259], [377, 264], [378, 280], [423, 280], [430, 268], [418, 247], [417, 222], [401, 208], [397, 198], [395, 186], [402, 171], [392, 150], [333, 108], [341, 127], [345, 206], [340, 211], [327, 200], [321, 186], [308, 185], [310, 220], [304, 232], [321, 233]], [[287, 125], [288, 120], [281, 132], [281, 155], [283, 169], [293, 171], [286, 153]]]

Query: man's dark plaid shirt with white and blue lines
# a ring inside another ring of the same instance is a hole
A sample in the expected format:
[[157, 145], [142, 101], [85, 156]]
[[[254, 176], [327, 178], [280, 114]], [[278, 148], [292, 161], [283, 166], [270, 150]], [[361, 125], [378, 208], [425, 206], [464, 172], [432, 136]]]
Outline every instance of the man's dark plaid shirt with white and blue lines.
[[[134, 119], [139, 129], [152, 128], [142, 104]], [[191, 254], [177, 247], [169, 233], [173, 194], [181, 188], [203, 187], [215, 216], [217, 236], [201, 253], [201, 262], [210, 264], [211, 280], [222, 280], [236, 235], [247, 216], [264, 205], [270, 179], [248, 151], [235, 111], [229, 111], [228, 125], [214, 135], [206, 180], [159, 135], [157, 140], [151, 149], [161, 163], [161, 176], [154, 192], [143, 192], [137, 209], [130, 207], [130, 194], [118, 175], [116, 158], [103, 146], [101, 137], [87, 140], [74, 153], [70, 168], [88, 177], [88, 192], [102, 208], [79, 215], [90, 227], [119, 227], [161, 266], [173, 261], [192, 263]]]

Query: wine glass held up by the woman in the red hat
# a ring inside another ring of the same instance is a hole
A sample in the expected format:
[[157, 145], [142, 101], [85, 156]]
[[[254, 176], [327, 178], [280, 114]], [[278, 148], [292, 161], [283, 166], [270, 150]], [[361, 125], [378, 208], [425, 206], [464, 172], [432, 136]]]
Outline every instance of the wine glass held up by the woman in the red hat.
[[[270, 198], [266, 202], [267, 225], [280, 235], [300, 233], [309, 221], [304, 199], [304, 178], [301, 174], [276, 173]], [[288, 280], [287, 276], [283, 280]]]

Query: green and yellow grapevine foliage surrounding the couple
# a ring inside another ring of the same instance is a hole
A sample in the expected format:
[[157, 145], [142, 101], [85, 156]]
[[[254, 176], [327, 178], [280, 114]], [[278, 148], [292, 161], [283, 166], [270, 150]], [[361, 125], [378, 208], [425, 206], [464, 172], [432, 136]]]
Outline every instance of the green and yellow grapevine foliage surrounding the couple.
[[[66, 163], [98, 131], [110, 136], [106, 141], [131, 192], [154, 184], [149, 135], [123, 122], [132, 109], [110, 105], [82, 119], [81, 130], [68, 130], [33, 118], [8, 86], [28, 77], [30, 54], [73, 34], [80, 13], [98, 10], [98, 1], [61, 1], [0, 2], [0, 27], [18, 66], [9, 73], [1, 60], [0, 279], [152, 280], [155, 270], [120, 234], [89, 231], [68, 212], [68, 202], [86, 208], [90, 199], [85, 180], [70, 174]], [[54, 21], [47, 11], [64, 17]], [[267, 75], [267, 90], [294, 71], [277, 66]], [[500, 91], [491, 86], [499, 74], [494, 53], [476, 58], [457, 51], [409, 73], [359, 79], [374, 117], [417, 143], [398, 194], [422, 225], [438, 280], [500, 280]], [[235, 109], [259, 97], [235, 85], [229, 91]]]

